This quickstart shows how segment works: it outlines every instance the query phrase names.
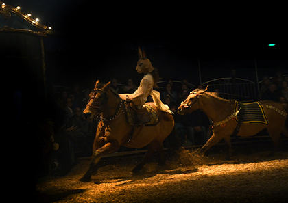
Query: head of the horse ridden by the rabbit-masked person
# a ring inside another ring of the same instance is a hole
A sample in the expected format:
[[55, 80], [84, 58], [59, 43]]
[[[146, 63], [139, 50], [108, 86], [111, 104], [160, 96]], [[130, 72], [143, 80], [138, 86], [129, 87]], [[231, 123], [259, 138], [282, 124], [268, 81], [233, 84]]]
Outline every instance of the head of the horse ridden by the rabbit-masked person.
[[94, 116], [103, 111], [104, 106], [108, 100], [108, 90], [110, 82], [104, 85], [99, 85], [99, 81], [96, 81], [94, 90], [90, 93], [90, 98], [86, 105], [86, 109], [83, 111], [85, 120], [91, 121]]

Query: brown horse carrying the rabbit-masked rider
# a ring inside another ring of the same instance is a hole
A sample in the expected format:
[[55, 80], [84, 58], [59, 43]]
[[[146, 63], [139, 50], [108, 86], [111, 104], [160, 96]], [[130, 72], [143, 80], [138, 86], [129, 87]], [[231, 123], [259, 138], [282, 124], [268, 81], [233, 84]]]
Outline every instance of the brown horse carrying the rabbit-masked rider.
[[93, 120], [101, 113], [93, 145], [92, 161], [88, 171], [80, 179], [82, 182], [91, 180], [91, 174], [97, 172], [97, 165], [102, 154], [115, 152], [120, 146], [128, 148], [143, 148], [149, 144], [149, 148], [139, 165], [133, 172], [139, 172], [155, 150], [160, 154], [160, 165], [165, 164], [163, 156], [164, 139], [173, 131], [173, 116], [163, 111], [158, 111], [154, 103], [146, 103], [154, 107], [158, 112], [159, 122], [155, 125], [132, 126], [126, 118], [126, 106], [119, 95], [110, 88], [110, 82], [100, 88], [96, 82], [95, 89], [90, 94], [90, 100], [84, 110], [84, 118]]

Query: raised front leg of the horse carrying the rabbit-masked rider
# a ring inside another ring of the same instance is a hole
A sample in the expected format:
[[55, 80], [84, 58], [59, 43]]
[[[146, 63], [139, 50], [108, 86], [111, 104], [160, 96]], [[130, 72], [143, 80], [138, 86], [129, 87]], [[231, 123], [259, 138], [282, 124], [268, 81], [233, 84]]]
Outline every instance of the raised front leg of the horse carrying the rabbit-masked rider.
[[89, 182], [91, 180], [91, 175], [95, 172], [97, 172], [99, 165], [97, 163], [101, 159], [101, 154], [109, 154], [112, 152], [116, 152], [119, 149], [119, 144], [117, 141], [110, 141], [101, 148], [95, 150], [93, 153], [92, 161], [89, 164], [89, 168], [84, 174], [84, 176], [80, 179], [81, 182]]

